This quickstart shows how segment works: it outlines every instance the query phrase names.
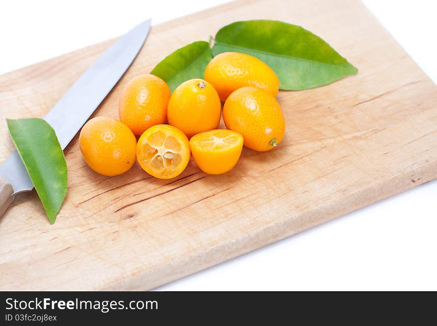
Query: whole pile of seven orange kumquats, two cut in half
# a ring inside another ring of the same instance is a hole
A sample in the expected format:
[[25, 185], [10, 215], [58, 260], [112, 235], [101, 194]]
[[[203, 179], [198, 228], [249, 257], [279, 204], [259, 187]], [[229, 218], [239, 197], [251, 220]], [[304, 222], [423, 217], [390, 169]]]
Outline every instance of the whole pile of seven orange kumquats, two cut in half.
[[[226, 173], [243, 145], [268, 151], [282, 141], [278, 91], [279, 79], [268, 65], [237, 52], [217, 55], [205, 80], [187, 80], [173, 94], [161, 78], [139, 75], [121, 92], [120, 121], [89, 120], [80, 132], [80, 150], [91, 169], [107, 176], [126, 172], [137, 159], [148, 174], [170, 179], [184, 171], [191, 155], [203, 172]], [[218, 129], [221, 102], [226, 129]]]

